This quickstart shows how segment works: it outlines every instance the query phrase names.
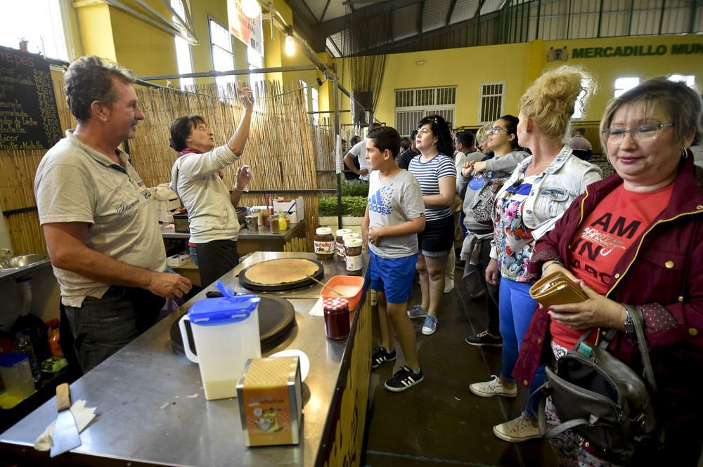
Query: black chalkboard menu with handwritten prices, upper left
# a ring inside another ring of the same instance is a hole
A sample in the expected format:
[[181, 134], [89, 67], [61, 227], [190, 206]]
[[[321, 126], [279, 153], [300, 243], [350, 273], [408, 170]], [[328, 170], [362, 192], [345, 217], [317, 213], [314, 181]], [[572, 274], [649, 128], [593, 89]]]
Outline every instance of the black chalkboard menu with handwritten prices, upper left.
[[49, 63], [0, 47], [0, 150], [49, 149], [61, 136]]

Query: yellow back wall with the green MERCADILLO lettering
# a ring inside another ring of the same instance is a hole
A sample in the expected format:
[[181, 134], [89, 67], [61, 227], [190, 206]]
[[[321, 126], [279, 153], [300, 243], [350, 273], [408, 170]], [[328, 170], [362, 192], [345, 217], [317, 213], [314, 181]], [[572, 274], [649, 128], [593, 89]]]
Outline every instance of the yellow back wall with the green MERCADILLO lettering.
[[[599, 120], [605, 105], [613, 96], [616, 77], [633, 75], [646, 79], [658, 74], [695, 74], [700, 86], [703, 83], [701, 55], [671, 55], [672, 44], [696, 43], [700, 43], [699, 35], [685, 34], [568, 41], [538, 40], [523, 44], [392, 54], [387, 58], [376, 117], [389, 125], [395, 125], [396, 89], [457, 86], [454, 126], [478, 126], [479, 92], [482, 82], [505, 81], [504, 113], [517, 115], [520, 97], [527, 86], [543, 71], [568, 63], [582, 65], [595, 74], [599, 91], [588, 103], [584, 119]], [[666, 55], [577, 59], [570, 57], [574, 48], [650, 44], [666, 45]], [[548, 63], [549, 49], [564, 46], [569, 50], [569, 60]], [[425, 65], [415, 65], [419, 60], [424, 60]], [[337, 60], [337, 63], [341, 68], [340, 60]], [[344, 86], [348, 88], [347, 83]]]

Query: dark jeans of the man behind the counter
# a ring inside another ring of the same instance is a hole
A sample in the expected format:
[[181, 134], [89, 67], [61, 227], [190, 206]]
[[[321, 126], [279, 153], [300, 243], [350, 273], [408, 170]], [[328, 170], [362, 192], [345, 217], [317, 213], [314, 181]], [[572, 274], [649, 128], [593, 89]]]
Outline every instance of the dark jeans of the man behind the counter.
[[165, 299], [144, 289], [112, 286], [102, 298], [66, 306], [76, 357], [87, 373], [158, 320]]

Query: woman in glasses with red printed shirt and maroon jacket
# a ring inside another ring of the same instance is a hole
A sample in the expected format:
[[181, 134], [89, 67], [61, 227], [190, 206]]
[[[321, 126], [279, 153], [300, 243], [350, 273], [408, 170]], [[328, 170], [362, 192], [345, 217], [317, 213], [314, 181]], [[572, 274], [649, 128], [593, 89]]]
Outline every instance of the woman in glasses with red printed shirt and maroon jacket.
[[[588, 299], [538, 310], [515, 376], [529, 381], [549, 345], [558, 359], [588, 329], [617, 329], [608, 350], [642, 374], [633, 318], [645, 339], [659, 389], [654, 398], [664, 445], [642, 448], [631, 465], [697, 466], [703, 430], [703, 169], [690, 145], [703, 136], [699, 93], [666, 77], [614, 98], [600, 140], [616, 173], [589, 186], [537, 242], [529, 277], [560, 271]], [[549, 334], [546, 334], [548, 331]], [[591, 338], [591, 343], [595, 339]], [[550, 400], [548, 426], [559, 423]], [[611, 466], [572, 430], [553, 440], [562, 465]]]

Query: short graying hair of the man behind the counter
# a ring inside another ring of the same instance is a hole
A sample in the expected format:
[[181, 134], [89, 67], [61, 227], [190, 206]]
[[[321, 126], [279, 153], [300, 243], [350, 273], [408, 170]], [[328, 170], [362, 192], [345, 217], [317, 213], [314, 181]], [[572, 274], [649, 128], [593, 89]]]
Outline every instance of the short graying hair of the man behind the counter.
[[112, 107], [117, 100], [112, 77], [126, 84], [136, 81], [134, 72], [107, 58], [86, 55], [71, 63], [64, 75], [63, 89], [68, 108], [78, 121], [88, 121], [93, 101]]

